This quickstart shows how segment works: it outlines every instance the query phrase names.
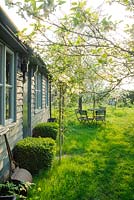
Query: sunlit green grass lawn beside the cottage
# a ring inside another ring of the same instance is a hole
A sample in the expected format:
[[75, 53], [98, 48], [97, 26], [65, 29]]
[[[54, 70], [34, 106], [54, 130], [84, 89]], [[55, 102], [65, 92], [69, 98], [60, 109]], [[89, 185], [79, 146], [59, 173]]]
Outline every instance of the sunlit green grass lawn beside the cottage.
[[27, 199], [133, 200], [134, 108], [108, 108], [101, 125], [67, 119], [62, 162], [34, 178]]

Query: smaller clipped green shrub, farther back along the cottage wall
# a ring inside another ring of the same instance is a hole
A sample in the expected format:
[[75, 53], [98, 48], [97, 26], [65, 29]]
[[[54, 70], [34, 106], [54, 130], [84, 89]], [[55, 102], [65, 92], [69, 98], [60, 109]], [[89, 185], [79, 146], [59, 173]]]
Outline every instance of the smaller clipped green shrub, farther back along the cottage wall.
[[51, 137], [56, 140], [58, 124], [56, 122], [43, 122], [33, 128], [33, 137]]

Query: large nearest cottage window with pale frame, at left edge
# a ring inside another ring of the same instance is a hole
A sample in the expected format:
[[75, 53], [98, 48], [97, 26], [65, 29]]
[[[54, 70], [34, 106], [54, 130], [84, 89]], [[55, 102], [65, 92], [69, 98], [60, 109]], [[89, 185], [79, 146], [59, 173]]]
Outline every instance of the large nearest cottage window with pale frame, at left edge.
[[14, 53], [0, 44], [0, 124], [14, 121]]

